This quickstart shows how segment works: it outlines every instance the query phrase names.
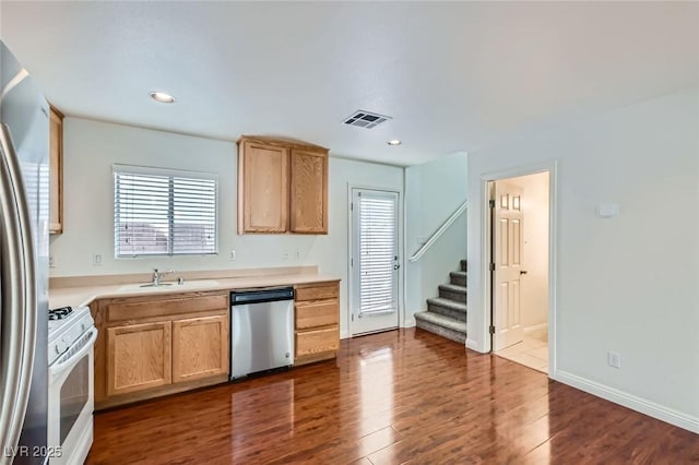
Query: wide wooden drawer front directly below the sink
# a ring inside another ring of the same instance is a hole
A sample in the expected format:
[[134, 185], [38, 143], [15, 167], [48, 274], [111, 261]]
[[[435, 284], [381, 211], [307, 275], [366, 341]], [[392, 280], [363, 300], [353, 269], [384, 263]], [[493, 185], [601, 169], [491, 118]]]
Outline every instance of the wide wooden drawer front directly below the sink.
[[209, 310], [227, 310], [228, 295], [173, 297], [107, 305], [107, 321], [117, 322], [153, 317], [167, 317]]

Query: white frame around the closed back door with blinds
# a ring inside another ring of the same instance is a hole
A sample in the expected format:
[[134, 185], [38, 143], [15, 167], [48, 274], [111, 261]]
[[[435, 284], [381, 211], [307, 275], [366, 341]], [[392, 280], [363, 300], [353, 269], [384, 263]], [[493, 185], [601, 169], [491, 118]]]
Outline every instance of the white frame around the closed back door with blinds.
[[[404, 228], [405, 228], [405, 218], [404, 218], [404, 204], [403, 204], [403, 188], [399, 188], [395, 186], [371, 186], [371, 184], [355, 184], [352, 182], [347, 182], [347, 313], [345, 314], [347, 325], [347, 333], [343, 334], [343, 337], [353, 337], [352, 336], [352, 314], [354, 313], [353, 306], [353, 291], [356, 283], [354, 282], [353, 276], [353, 248], [354, 248], [354, 235], [353, 235], [353, 217], [352, 217], [352, 190], [360, 189], [360, 190], [369, 190], [369, 191], [383, 191], [383, 192], [395, 192], [398, 193], [398, 252], [399, 260], [398, 263], [401, 265], [398, 271], [398, 327], [405, 327], [405, 250], [404, 250]], [[359, 335], [357, 335], [359, 337]]]

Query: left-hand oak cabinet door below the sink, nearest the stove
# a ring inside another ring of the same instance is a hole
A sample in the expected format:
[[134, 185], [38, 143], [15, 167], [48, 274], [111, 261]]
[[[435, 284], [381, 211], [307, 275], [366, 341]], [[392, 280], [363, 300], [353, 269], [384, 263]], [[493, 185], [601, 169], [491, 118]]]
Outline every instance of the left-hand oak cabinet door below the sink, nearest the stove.
[[107, 395], [171, 383], [170, 322], [107, 329]]

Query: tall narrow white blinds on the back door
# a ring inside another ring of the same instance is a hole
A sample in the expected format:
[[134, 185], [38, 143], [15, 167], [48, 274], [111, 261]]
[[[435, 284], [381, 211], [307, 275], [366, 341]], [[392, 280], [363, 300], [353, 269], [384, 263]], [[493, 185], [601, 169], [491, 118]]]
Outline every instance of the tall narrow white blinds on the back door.
[[398, 194], [362, 191], [358, 216], [359, 314], [398, 309]]

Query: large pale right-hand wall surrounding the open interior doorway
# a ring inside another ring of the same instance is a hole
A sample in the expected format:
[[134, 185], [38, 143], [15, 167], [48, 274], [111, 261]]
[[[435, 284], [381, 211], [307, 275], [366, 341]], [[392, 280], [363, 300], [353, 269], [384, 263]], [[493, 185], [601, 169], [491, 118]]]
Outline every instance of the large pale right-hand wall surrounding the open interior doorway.
[[698, 112], [695, 87], [469, 154], [471, 346], [489, 349], [483, 179], [557, 160], [554, 377], [699, 431]]

